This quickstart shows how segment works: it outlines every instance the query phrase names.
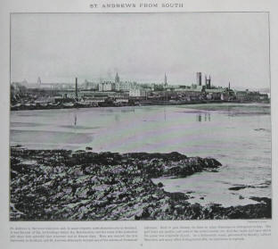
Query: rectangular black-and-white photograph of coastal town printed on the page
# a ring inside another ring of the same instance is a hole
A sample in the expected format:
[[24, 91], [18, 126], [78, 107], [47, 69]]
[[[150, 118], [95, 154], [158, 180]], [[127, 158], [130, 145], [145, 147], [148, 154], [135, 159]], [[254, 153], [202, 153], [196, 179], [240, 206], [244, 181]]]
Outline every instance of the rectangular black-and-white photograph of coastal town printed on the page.
[[272, 219], [268, 12], [10, 20], [11, 221]]

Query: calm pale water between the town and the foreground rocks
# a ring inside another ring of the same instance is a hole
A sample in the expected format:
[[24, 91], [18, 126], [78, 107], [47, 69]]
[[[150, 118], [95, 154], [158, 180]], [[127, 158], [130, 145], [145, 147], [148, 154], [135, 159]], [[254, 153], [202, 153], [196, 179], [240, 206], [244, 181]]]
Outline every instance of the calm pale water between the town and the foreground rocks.
[[[159, 178], [167, 191], [192, 192], [192, 203], [255, 203], [271, 196], [269, 104], [194, 104], [11, 113], [11, 145], [95, 152], [180, 152], [211, 156], [218, 172]], [[239, 191], [229, 187], [248, 185]]]

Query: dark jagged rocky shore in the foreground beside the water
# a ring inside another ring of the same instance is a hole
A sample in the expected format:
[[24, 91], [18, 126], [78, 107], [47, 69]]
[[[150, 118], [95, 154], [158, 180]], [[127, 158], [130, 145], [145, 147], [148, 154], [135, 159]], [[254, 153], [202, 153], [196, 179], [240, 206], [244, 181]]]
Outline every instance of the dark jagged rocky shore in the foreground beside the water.
[[190, 204], [151, 178], [216, 170], [212, 158], [11, 148], [10, 220], [203, 220], [271, 218], [271, 200], [224, 208]]

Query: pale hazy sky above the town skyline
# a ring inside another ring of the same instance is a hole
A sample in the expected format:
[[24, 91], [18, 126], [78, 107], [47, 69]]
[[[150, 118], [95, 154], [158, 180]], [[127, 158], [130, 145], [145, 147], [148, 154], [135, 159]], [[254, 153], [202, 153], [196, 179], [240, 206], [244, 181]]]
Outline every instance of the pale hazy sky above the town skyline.
[[11, 81], [269, 87], [266, 12], [15, 13]]

